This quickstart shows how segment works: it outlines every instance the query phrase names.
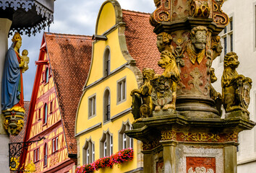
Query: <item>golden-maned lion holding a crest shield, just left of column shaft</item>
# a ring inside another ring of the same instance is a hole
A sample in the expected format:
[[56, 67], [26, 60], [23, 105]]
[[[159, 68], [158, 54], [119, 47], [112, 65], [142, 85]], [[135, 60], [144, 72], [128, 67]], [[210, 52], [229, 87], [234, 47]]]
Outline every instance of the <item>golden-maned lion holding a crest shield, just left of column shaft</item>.
[[161, 108], [163, 110], [175, 110], [176, 86], [180, 79], [176, 60], [168, 50], [164, 50], [161, 53], [158, 66], [165, 70], [163, 74], [155, 74], [154, 79], [150, 81], [153, 86], [151, 97], [155, 105], [155, 111], [161, 110]]

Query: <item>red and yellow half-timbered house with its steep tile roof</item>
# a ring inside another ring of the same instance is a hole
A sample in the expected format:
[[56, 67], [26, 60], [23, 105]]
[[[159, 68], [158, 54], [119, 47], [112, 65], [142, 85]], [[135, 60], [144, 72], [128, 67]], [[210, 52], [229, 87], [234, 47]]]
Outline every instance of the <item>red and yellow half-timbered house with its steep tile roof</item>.
[[21, 164], [36, 172], [74, 172], [77, 144], [74, 120], [90, 68], [91, 37], [44, 33], [31, 97]]

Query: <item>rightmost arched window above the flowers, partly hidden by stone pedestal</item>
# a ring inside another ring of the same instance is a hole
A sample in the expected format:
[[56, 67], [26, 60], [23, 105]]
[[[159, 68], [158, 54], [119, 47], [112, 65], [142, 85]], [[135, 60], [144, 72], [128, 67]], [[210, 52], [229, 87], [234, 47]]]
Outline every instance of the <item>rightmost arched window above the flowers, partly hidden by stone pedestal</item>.
[[132, 125], [129, 124], [129, 121], [123, 123], [121, 125], [121, 129], [119, 130], [119, 150], [124, 148], [133, 148], [133, 139], [129, 138], [124, 131], [131, 130]]

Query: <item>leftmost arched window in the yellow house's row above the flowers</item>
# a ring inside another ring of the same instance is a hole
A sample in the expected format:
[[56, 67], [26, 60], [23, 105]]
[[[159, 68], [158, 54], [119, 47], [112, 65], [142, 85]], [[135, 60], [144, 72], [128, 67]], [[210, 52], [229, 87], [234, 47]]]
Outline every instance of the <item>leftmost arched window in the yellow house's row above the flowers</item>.
[[85, 146], [82, 148], [83, 164], [90, 164], [95, 161], [95, 144], [91, 139], [85, 142]]

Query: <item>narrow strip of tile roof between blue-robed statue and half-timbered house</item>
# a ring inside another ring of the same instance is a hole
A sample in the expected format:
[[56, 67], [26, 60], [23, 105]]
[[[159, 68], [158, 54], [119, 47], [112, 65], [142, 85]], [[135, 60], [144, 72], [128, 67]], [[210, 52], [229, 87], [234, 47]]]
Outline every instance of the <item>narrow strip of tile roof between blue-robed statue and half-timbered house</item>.
[[20, 131], [19, 135], [17, 136], [12, 136], [10, 135], [10, 143], [18, 143], [18, 142], [23, 142], [24, 136], [25, 136], [25, 130], [26, 130], [26, 125], [27, 125], [27, 114], [28, 110], [30, 108], [30, 101], [24, 101], [24, 107], [25, 107], [25, 117], [24, 117], [24, 126], [22, 130]]

